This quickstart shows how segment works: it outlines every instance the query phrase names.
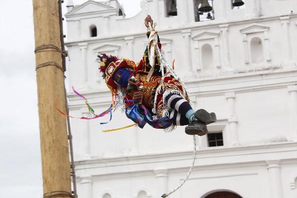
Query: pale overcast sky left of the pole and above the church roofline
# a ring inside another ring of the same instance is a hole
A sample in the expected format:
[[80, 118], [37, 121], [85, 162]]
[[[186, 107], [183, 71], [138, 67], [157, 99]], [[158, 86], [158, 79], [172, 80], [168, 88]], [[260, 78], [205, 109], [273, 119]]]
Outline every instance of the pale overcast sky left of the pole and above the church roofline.
[[[140, 0], [118, 1], [127, 17], [141, 10]], [[1, 1], [0, 198], [43, 197], [32, 4]]]

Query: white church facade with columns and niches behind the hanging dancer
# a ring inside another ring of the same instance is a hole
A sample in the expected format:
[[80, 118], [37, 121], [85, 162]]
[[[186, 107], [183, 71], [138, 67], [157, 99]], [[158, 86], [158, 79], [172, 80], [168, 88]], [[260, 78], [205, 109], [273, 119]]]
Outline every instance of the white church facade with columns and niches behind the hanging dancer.
[[[147, 0], [168, 62], [186, 84], [195, 109], [216, 112], [197, 138], [189, 180], [171, 198], [297, 197], [296, 0]], [[169, 2], [172, 1], [172, 2]], [[117, 0], [67, 2], [69, 109], [90, 116], [111, 103], [99, 73], [99, 52], [141, 60], [147, 41], [145, 3], [125, 17]], [[115, 112], [71, 120], [79, 198], [158, 198], [177, 187], [191, 166], [193, 138], [133, 124]]]

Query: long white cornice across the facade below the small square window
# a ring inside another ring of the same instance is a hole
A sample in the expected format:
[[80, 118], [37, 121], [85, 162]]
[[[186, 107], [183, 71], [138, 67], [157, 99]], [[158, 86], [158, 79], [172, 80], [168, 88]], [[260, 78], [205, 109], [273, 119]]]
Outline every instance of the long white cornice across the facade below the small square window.
[[[296, 142], [259, 144], [233, 148], [204, 148], [197, 150], [195, 167], [199, 170], [232, 169], [236, 167], [267, 166], [267, 161], [278, 160], [281, 165], [296, 164]], [[286, 154], [288, 153], [288, 154]], [[169, 173], [185, 172], [189, 169], [193, 151], [172, 153], [148, 153], [125, 157], [104, 157], [76, 161], [77, 175], [80, 171], [94, 179], [115, 179], [154, 174], [155, 166], [166, 166]], [[253, 158], [252, 156], [257, 156]], [[111, 171], [112, 170], [112, 171]]]

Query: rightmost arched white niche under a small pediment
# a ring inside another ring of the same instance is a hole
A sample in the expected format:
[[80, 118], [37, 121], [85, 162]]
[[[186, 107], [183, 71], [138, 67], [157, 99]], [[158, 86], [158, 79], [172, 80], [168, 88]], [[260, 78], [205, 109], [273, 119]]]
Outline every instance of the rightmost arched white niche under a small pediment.
[[252, 63], [260, 63], [264, 61], [262, 41], [258, 37], [250, 40], [250, 56]]

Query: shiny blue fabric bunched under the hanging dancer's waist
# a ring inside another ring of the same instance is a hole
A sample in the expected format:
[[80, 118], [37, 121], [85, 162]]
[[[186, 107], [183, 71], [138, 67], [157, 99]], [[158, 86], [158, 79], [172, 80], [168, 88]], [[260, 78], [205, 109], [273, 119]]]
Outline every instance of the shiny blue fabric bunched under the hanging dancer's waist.
[[148, 123], [155, 129], [165, 129], [173, 123], [172, 119], [166, 117], [153, 119], [148, 109], [141, 103], [126, 106], [126, 115], [129, 119], [137, 123], [140, 128], [144, 128]]

